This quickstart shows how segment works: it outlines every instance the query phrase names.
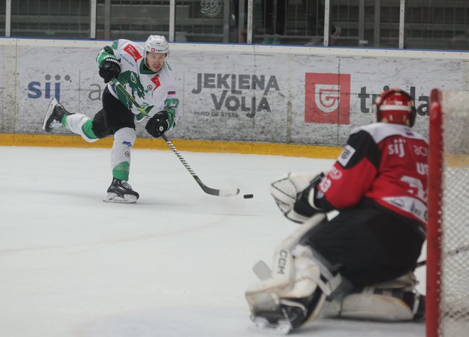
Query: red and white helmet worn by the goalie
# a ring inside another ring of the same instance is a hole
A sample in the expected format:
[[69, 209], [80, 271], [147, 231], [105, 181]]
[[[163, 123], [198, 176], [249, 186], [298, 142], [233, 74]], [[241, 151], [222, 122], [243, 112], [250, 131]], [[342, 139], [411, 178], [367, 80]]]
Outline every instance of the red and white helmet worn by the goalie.
[[377, 122], [414, 126], [416, 117], [414, 99], [404, 90], [389, 89], [377, 97], [375, 103]]

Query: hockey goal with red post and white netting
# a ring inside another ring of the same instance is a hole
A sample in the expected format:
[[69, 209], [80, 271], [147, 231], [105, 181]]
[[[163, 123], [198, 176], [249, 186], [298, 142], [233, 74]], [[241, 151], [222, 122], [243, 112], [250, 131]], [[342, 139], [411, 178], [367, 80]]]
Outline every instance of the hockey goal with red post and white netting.
[[469, 336], [469, 92], [433, 89], [426, 336]]

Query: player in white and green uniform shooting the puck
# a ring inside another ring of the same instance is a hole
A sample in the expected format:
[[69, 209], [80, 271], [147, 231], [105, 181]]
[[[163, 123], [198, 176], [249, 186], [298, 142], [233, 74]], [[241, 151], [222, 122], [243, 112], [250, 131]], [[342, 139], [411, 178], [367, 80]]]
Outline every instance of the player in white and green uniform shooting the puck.
[[111, 150], [112, 183], [103, 201], [136, 203], [139, 193], [129, 181], [131, 147], [136, 140], [135, 122], [146, 119], [124, 93], [114, 85], [115, 77], [149, 115], [146, 130], [160, 137], [176, 125], [178, 88], [166, 60], [169, 44], [164, 36], [151, 35], [144, 47], [129, 40], [116, 40], [97, 55], [99, 75], [107, 83], [102, 94], [102, 109], [94, 118], [68, 112], [55, 98], [45, 114], [43, 130], [65, 127], [93, 142], [114, 136]]

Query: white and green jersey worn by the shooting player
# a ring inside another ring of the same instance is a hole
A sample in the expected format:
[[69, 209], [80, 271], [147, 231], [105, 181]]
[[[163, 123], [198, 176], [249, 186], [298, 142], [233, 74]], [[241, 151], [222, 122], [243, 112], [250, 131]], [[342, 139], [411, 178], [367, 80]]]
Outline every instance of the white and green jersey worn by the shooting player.
[[[101, 65], [105, 58], [116, 58], [121, 62], [121, 73], [118, 80], [130, 92], [136, 102], [143, 107], [149, 116], [158, 111], [166, 110], [169, 114], [169, 127], [175, 125], [178, 115], [179, 99], [178, 87], [173, 71], [168, 63], [164, 63], [158, 73], [154, 73], [144, 62], [144, 48], [129, 40], [116, 40], [112, 46], [104, 47], [97, 56], [97, 63]], [[129, 99], [120, 92], [115, 85], [108, 83], [109, 91], [122, 104], [136, 114], [136, 119], [144, 118], [143, 114], [134, 107]]]

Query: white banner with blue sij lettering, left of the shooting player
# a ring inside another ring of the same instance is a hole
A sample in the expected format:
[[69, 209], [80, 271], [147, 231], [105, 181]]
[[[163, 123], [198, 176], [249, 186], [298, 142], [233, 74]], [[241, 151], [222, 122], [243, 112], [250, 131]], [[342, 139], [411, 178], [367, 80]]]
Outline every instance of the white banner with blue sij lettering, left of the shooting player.
[[[16, 132], [43, 133], [43, 117], [52, 97], [70, 112], [93, 117], [102, 108], [105, 86], [97, 72], [98, 51], [95, 48], [18, 46]], [[54, 132], [70, 134], [63, 128]]]

